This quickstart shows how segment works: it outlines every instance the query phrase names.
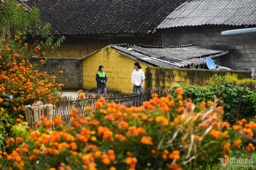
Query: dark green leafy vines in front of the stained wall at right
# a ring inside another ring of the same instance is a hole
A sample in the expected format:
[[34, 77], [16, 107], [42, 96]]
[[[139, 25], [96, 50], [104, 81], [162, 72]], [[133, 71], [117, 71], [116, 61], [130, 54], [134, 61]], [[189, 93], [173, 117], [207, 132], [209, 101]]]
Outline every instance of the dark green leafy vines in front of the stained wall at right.
[[207, 88], [196, 88], [183, 83], [180, 85], [184, 90], [184, 95], [191, 98], [195, 104], [202, 101], [214, 101], [215, 97], [221, 98], [225, 105], [224, 120], [230, 123], [255, 115], [256, 96], [246, 84], [230, 81], [228, 77], [221, 77], [217, 74], [213, 75], [211, 80]]

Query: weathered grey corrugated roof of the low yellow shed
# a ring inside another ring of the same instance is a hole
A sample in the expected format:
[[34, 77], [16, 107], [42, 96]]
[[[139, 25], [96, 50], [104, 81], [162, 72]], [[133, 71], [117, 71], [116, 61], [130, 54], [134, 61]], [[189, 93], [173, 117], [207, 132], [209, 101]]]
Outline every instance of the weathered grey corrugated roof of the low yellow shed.
[[[205, 59], [207, 57], [224, 52], [223, 50], [200, 48], [194, 46], [193, 44], [180, 46], [111, 44], [110, 46], [118, 50], [118, 53], [140, 61], [146, 65], [169, 68], [182, 68], [188, 65], [197, 66], [200, 64], [205, 64]], [[79, 58], [78, 60], [87, 58], [95, 52]]]

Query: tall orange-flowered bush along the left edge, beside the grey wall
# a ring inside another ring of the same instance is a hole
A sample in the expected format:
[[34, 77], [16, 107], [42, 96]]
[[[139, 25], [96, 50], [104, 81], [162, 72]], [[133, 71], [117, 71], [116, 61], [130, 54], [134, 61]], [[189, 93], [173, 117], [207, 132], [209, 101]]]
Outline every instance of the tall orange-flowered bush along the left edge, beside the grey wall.
[[[37, 66], [33, 66], [28, 57], [33, 51], [28, 52], [28, 44], [15, 50], [15, 43], [19, 37], [7, 42], [0, 41], [0, 150], [5, 150], [5, 138], [10, 135], [14, 124], [25, 120], [24, 106], [37, 101], [51, 104], [59, 97], [58, 90], [63, 84], [56, 84], [56, 76], [40, 73]], [[37, 46], [35, 50], [40, 50]], [[41, 61], [44, 64], [44, 61]]]

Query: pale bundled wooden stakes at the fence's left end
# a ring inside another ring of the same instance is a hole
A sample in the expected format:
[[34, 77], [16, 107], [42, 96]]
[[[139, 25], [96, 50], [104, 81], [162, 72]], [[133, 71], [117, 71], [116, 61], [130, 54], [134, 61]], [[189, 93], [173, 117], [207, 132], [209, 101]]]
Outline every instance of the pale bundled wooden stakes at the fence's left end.
[[[25, 114], [28, 126], [32, 130], [36, 130], [36, 124], [41, 121], [41, 117], [44, 116], [47, 120], [52, 120], [52, 104], [43, 104], [37, 102], [36, 104], [26, 105]], [[51, 130], [52, 127], [49, 128]]]

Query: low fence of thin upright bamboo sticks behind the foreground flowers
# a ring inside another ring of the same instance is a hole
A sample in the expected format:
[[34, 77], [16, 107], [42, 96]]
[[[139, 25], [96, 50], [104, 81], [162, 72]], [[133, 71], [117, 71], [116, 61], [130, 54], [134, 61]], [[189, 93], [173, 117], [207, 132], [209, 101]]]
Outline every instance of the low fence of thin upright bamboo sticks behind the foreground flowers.
[[83, 114], [84, 116], [87, 115], [85, 111], [85, 106], [91, 107], [91, 110], [95, 109], [95, 102], [98, 99], [103, 98], [106, 100], [107, 103], [114, 102], [115, 104], [122, 104], [126, 107], [136, 106], [140, 107], [143, 105], [143, 102], [149, 101], [152, 99], [151, 95], [156, 93], [159, 97], [166, 97], [170, 94], [170, 91], [166, 91], [165, 89], [147, 89], [143, 93], [138, 94], [108, 94], [107, 97], [104, 97], [104, 94], [93, 96], [89, 93], [84, 93], [86, 99], [86, 104], [84, 100], [80, 100], [78, 97], [62, 97], [56, 104], [55, 109], [53, 109], [53, 117], [61, 115], [62, 120], [66, 123], [70, 123], [70, 116], [69, 113], [71, 108], [76, 108], [77, 112]]

